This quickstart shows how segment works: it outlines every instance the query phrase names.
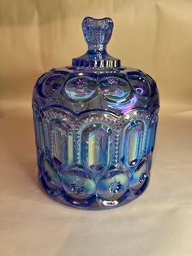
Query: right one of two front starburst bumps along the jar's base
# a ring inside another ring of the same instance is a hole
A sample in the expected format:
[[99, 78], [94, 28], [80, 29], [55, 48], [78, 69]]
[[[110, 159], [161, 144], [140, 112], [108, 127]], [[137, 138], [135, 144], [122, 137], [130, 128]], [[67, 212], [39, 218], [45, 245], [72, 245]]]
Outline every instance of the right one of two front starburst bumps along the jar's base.
[[[123, 170], [112, 170], [104, 174], [97, 183], [97, 201], [103, 205], [119, 204], [129, 194], [129, 178]], [[120, 201], [119, 201], [120, 200]]]

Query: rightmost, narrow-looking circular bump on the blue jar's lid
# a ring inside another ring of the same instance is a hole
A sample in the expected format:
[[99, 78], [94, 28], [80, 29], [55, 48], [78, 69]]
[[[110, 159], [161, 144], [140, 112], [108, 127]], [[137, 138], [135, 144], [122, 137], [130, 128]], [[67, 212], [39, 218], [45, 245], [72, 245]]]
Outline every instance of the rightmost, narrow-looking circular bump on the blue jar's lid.
[[137, 93], [137, 95], [141, 95], [143, 97], [147, 97], [151, 95], [151, 88], [146, 80], [138, 75], [130, 75], [128, 80]]

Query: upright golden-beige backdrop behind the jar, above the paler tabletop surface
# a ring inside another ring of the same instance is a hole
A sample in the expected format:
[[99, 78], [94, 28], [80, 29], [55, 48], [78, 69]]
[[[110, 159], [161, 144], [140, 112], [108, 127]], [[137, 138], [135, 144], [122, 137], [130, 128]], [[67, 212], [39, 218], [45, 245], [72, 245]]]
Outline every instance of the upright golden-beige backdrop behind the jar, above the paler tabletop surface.
[[30, 99], [42, 72], [83, 54], [86, 15], [114, 20], [108, 51], [150, 73], [162, 104], [192, 105], [189, 0], [1, 0], [1, 99]]

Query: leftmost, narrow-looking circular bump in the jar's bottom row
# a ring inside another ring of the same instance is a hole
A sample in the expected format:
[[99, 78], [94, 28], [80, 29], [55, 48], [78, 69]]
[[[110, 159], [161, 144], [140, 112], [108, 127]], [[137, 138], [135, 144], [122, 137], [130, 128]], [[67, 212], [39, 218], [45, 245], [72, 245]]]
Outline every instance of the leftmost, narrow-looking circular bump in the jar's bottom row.
[[51, 196], [57, 196], [62, 188], [61, 179], [54, 166], [49, 161], [45, 161], [44, 170], [41, 174], [44, 179], [43, 185], [46, 187], [46, 191]]

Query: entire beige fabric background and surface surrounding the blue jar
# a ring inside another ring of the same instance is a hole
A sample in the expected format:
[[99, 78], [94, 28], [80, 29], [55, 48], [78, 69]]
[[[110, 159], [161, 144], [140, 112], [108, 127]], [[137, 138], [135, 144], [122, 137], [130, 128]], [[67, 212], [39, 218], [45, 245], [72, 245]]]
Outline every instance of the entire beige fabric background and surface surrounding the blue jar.
[[[31, 98], [37, 77], [71, 64], [81, 21], [110, 16], [108, 52], [159, 86], [151, 184], [129, 205], [69, 208], [38, 185]], [[0, 1], [0, 255], [192, 255], [192, 2]]]

